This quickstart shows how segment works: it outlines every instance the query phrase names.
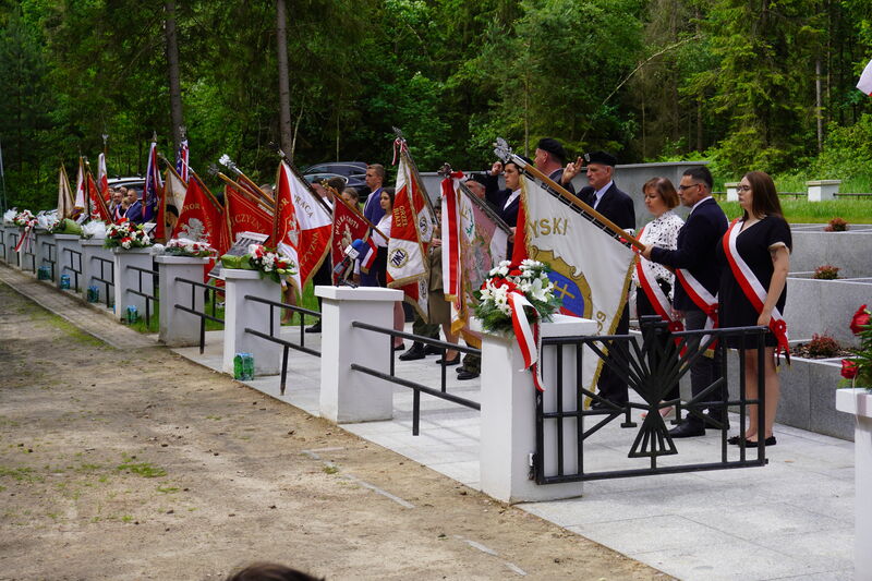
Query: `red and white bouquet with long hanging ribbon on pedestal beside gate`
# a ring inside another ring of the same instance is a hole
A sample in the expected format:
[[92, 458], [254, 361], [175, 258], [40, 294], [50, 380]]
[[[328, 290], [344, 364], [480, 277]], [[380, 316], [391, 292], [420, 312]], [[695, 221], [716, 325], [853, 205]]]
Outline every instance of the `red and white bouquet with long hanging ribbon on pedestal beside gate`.
[[533, 373], [533, 384], [543, 391], [538, 372], [541, 337], [538, 325], [550, 320], [560, 308], [548, 278], [550, 268], [538, 261], [520, 264], [502, 261], [488, 273], [482, 288], [475, 291], [479, 301], [475, 316], [486, 331], [512, 331], [524, 359], [524, 368]]

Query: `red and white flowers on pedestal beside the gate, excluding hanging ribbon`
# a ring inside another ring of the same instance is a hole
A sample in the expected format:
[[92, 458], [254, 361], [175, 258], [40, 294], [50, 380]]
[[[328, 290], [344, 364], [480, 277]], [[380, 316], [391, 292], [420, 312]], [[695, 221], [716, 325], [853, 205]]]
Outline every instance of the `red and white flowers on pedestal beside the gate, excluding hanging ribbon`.
[[529, 323], [538, 319], [549, 320], [560, 308], [560, 300], [554, 295], [554, 285], [548, 279], [548, 270], [550, 270], [548, 265], [530, 259], [522, 261], [520, 265], [502, 261], [493, 268], [482, 288], [474, 292], [479, 301], [475, 316], [482, 320], [484, 330], [513, 329], [512, 307], [509, 304], [512, 293], [520, 293], [526, 299], [529, 305], [524, 305], [526, 307], [524, 314]]

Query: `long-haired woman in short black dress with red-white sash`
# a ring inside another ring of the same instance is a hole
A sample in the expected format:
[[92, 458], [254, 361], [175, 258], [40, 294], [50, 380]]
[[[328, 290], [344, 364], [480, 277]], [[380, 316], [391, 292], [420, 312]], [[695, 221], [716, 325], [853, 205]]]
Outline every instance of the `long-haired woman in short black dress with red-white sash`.
[[[775, 184], [762, 171], [747, 173], [739, 182], [739, 205], [744, 210], [724, 234], [718, 245], [718, 257], [723, 259], [718, 307], [720, 327], [746, 327], [763, 325], [773, 332], [766, 334], [764, 356], [764, 389], [766, 395], [763, 411], [766, 446], [776, 444], [772, 434], [775, 411], [778, 408], [779, 383], [775, 372], [775, 350], [786, 347], [786, 328], [782, 313], [787, 299], [787, 273], [790, 266], [792, 240], [790, 227], [782, 216], [782, 206]], [[742, 273], [746, 275], [742, 275]], [[759, 292], [752, 290], [759, 282]], [[741, 285], [740, 282], [743, 282]], [[743, 287], [748, 290], [743, 290]], [[747, 294], [748, 292], [748, 294]], [[751, 298], [749, 298], [751, 295]], [[777, 332], [779, 327], [782, 332]], [[779, 340], [780, 339], [780, 340]], [[742, 349], [744, 356], [744, 385], [749, 399], [758, 397], [756, 339], [731, 338], [727, 347]], [[738, 436], [730, 444], [756, 446], [758, 407], [749, 407], [750, 425], [742, 441]]]

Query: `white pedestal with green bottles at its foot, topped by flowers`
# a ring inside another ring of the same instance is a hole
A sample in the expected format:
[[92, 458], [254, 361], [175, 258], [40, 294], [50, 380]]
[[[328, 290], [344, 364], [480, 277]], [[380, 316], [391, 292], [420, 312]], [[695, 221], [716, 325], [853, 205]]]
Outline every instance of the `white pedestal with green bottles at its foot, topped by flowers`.
[[[281, 373], [282, 348], [278, 343], [267, 341], [245, 332], [251, 328], [261, 332], [269, 332], [268, 304], [256, 303], [245, 299], [246, 295], [281, 301], [281, 285], [268, 278], [261, 278], [256, 270], [225, 268], [225, 352], [221, 370], [233, 374], [233, 358], [237, 353], [251, 353], [254, 356], [255, 375], [276, 375]], [[199, 277], [203, 277], [201, 270]], [[196, 277], [192, 277], [196, 278]], [[281, 308], [272, 308], [272, 328], [275, 335], [281, 329]]]

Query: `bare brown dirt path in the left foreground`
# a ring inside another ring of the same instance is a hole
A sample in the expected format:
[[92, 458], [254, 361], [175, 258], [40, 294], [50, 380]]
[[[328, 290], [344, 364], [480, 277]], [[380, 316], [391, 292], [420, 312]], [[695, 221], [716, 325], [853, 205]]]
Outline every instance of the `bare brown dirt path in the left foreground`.
[[2, 283], [0, 515], [0, 579], [666, 578]]

